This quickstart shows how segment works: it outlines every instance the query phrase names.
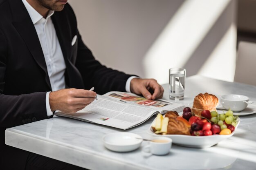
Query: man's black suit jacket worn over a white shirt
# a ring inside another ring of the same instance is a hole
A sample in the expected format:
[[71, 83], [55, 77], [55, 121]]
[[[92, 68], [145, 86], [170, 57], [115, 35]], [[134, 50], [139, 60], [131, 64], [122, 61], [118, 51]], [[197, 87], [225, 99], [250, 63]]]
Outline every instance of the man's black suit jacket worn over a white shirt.
[[[94, 59], [81, 39], [69, 4], [62, 11], [55, 11], [52, 21], [66, 64], [68, 87], [94, 86], [98, 94], [125, 91], [131, 75], [106, 68]], [[77, 40], [72, 46], [75, 35]], [[13, 148], [4, 145], [5, 128], [48, 118], [47, 91], [51, 91], [47, 66], [29, 13], [21, 0], [0, 0], [0, 146], [6, 154]], [[22, 157], [25, 160], [26, 155]]]

